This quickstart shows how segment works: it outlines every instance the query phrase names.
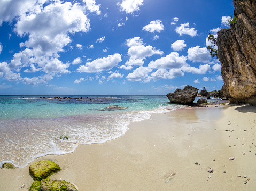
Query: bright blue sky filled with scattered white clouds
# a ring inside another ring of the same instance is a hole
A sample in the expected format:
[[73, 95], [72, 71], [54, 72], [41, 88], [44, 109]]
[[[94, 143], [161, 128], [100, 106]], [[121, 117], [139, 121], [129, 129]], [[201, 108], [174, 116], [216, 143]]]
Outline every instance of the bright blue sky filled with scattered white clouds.
[[232, 0], [0, 0], [0, 94], [219, 90], [209, 34]]

